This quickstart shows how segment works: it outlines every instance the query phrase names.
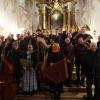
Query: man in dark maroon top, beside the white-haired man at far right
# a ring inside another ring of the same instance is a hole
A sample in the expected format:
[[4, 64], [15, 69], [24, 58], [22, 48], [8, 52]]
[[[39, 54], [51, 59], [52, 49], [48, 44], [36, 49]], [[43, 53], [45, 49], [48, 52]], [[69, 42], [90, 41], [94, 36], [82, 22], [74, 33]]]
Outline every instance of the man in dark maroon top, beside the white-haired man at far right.
[[[84, 59], [87, 52], [87, 46], [84, 43], [83, 38], [78, 39], [78, 44], [75, 46], [75, 65], [76, 65], [76, 76], [77, 83], [84, 85]], [[80, 73], [81, 72], [81, 73]]]

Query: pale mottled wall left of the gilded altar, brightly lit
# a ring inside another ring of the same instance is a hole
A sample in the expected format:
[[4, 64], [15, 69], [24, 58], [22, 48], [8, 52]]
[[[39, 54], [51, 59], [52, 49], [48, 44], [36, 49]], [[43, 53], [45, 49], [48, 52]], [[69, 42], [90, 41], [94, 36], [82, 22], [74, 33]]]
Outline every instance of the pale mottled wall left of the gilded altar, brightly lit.
[[[25, 30], [36, 31], [39, 24], [36, 2], [31, 9], [26, 6], [26, 0], [0, 0], [0, 34], [21, 34]], [[27, 4], [28, 5], [28, 4]], [[27, 8], [25, 8], [27, 7]]]

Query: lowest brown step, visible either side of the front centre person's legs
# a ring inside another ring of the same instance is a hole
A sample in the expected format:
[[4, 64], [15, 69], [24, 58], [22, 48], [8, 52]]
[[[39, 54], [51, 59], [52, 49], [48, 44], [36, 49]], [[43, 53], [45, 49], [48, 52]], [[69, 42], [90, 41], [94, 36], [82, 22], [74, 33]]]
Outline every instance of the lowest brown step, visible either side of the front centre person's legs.
[[[83, 92], [64, 92], [61, 94], [61, 100], [82, 100], [85, 93]], [[16, 95], [14, 100], [51, 100], [48, 92], [35, 93], [32, 96]]]

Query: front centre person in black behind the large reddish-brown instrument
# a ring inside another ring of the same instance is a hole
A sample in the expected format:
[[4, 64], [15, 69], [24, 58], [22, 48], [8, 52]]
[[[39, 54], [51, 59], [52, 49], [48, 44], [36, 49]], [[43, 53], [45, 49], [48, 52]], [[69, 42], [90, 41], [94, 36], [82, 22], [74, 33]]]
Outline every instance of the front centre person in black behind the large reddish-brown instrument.
[[[49, 66], [53, 66], [54, 63], [64, 59], [64, 55], [60, 52], [59, 43], [53, 43], [48, 52], [47, 63]], [[50, 92], [53, 94], [52, 100], [60, 100], [60, 95], [63, 90], [63, 84], [56, 84], [50, 81]]]

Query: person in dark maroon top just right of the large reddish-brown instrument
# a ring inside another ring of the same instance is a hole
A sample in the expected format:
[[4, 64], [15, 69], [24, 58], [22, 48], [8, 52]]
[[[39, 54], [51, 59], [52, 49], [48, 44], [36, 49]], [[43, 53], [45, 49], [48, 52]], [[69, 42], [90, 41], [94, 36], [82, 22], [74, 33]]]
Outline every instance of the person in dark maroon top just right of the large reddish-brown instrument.
[[70, 86], [70, 84], [73, 82], [72, 71], [73, 71], [73, 64], [74, 64], [75, 49], [69, 38], [65, 38], [63, 52], [67, 58], [68, 76], [69, 76], [65, 82], [65, 85]]

